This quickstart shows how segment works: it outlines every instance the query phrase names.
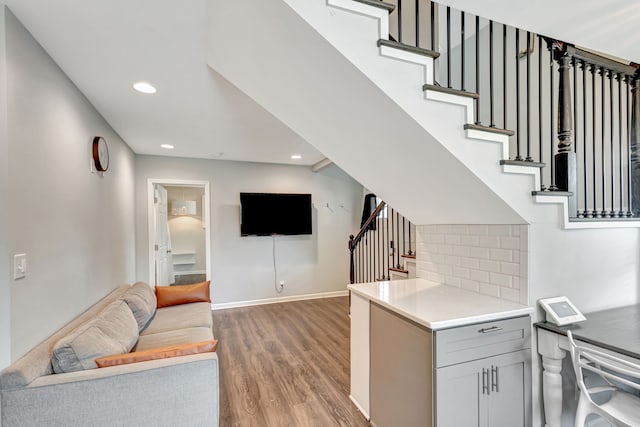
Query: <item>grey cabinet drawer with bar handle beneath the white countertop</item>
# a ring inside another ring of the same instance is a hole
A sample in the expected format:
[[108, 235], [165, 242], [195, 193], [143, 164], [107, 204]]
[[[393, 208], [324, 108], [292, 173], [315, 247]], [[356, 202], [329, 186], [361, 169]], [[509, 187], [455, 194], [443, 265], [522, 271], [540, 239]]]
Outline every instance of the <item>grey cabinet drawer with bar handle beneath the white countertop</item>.
[[437, 368], [531, 348], [529, 316], [435, 331]]

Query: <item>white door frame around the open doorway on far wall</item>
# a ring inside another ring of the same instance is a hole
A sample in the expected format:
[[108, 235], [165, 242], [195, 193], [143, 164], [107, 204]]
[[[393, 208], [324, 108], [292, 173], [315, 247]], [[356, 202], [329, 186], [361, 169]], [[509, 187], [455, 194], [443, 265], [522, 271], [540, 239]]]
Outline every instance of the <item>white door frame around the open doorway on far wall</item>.
[[153, 216], [154, 210], [154, 190], [155, 184], [170, 185], [177, 187], [198, 187], [204, 188], [204, 203], [202, 204], [202, 224], [205, 228], [205, 252], [206, 252], [206, 278], [211, 280], [211, 199], [209, 195], [209, 181], [199, 181], [191, 179], [170, 179], [170, 178], [149, 178], [147, 179], [147, 226], [149, 230], [148, 252], [149, 257], [149, 284], [154, 285], [155, 281], [155, 221]]

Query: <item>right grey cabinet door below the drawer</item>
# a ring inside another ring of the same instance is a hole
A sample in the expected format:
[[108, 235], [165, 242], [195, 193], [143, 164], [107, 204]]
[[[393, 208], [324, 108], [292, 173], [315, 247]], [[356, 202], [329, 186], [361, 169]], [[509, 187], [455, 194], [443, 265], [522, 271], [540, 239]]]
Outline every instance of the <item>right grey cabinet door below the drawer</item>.
[[530, 350], [516, 351], [487, 359], [491, 369], [489, 425], [491, 427], [528, 427], [531, 425], [529, 402], [531, 389]]

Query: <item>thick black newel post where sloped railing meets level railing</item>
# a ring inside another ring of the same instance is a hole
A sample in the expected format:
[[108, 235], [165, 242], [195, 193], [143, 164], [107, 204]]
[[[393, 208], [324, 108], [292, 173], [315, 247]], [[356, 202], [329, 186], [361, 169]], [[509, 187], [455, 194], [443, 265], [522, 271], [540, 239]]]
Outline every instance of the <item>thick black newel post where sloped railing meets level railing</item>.
[[573, 116], [571, 101], [571, 56], [567, 45], [556, 44], [555, 60], [558, 62], [558, 153], [555, 155], [555, 184], [559, 191], [573, 193], [569, 197], [569, 216], [578, 212], [577, 165], [573, 151]]

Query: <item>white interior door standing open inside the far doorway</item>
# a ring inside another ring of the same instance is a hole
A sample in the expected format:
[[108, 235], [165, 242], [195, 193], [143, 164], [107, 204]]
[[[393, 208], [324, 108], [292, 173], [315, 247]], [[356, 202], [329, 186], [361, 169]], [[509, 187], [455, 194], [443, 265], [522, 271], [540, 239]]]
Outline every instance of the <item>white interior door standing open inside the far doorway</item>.
[[167, 189], [160, 184], [154, 185], [154, 222], [155, 222], [155, 284], [167, 286], [174, 282], [171, 260], [171, 236], [167, 217]]

